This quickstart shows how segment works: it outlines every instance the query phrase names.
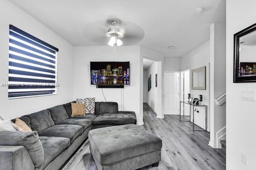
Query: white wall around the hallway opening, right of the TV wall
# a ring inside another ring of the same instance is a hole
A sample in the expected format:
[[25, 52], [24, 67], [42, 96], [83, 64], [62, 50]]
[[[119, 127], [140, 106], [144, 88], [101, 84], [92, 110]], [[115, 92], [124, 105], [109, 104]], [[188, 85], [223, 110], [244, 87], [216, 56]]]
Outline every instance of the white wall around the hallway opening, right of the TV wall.
[[[164, 114], [163, 114], [163, 103], [162, 103], [162, 99], [163, 99], [163, 71], [164, 71], [164, 67], [163, 67], [163, 63], [164, 63], [164, 55], [156, 52], [154, 50], [150, 50], [148, 48], [145, 48], [143, 46], [141, 46], [141, 67], [143, 67], [143, 58], [145, 59], [149, 59], [149, 60], [153, 60], [153, 61], [157, 61], [157, 76], [158, 76], [158, 87], [157, 87], [157, 108], [158, 110], [156, 110], [155, 112], [157, 113], [157, 118], [164, 118]], [[141, 75], [143, 74], [143, 70], [141, 68]], [[153, 75], [152, 75], [153, 76]], [[141, 79], [141, 88], [143, 88], [143, 80]], [[142, 91], [142, 89], [141, 89]], [[147, 96], [148, 98], [148, 96]]]

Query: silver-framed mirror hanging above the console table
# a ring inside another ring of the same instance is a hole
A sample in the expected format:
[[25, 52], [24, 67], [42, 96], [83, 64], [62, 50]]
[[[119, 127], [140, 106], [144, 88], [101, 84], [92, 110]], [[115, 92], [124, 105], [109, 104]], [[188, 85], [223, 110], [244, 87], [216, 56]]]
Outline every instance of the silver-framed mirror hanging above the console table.
[[206, 90], [206, 66], [191, 70], [191, 89]]

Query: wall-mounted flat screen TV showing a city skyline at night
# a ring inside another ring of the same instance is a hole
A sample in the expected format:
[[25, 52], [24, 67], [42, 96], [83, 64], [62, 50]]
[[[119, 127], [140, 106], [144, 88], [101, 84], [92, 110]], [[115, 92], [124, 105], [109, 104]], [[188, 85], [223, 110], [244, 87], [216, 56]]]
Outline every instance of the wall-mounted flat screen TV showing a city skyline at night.
[[92, 85], [130, 85], [130, 62], [91, 62]]

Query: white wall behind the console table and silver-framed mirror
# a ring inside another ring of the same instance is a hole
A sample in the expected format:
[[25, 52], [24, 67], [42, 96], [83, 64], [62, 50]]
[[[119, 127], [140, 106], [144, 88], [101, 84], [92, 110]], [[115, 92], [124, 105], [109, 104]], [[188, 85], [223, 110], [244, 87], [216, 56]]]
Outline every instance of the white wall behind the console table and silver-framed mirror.
[[[203, 104], [205, 105], [209, 105], [209, 58], [210, 58], [210, 42], [209, 41], [203, 43], [199, 47], [195, 48], [193, 51], [181, 57], [181, 70], [187, 69], [187, 68], [192, 70], [202, 66], [206, 66], [206, 90], [190, 90], [192, 98], [199, 98], [199, 94], [202, 94]], [[199, 110], [199, 113], [195, 112], [195, 123], [198, 126], [205, 128], [205, 108], [198, 107], [198, 110]], [[208, 107], [208, 117], [209, 117], [209, 107]]]

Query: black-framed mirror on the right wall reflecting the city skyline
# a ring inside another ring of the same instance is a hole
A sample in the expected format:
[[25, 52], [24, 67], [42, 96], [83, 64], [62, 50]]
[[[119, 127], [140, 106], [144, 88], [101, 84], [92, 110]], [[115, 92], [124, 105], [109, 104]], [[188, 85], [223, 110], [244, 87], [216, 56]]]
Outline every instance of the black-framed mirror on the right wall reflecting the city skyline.
[[256, 82], [256, 23], [234, 34], [233, 82]]

